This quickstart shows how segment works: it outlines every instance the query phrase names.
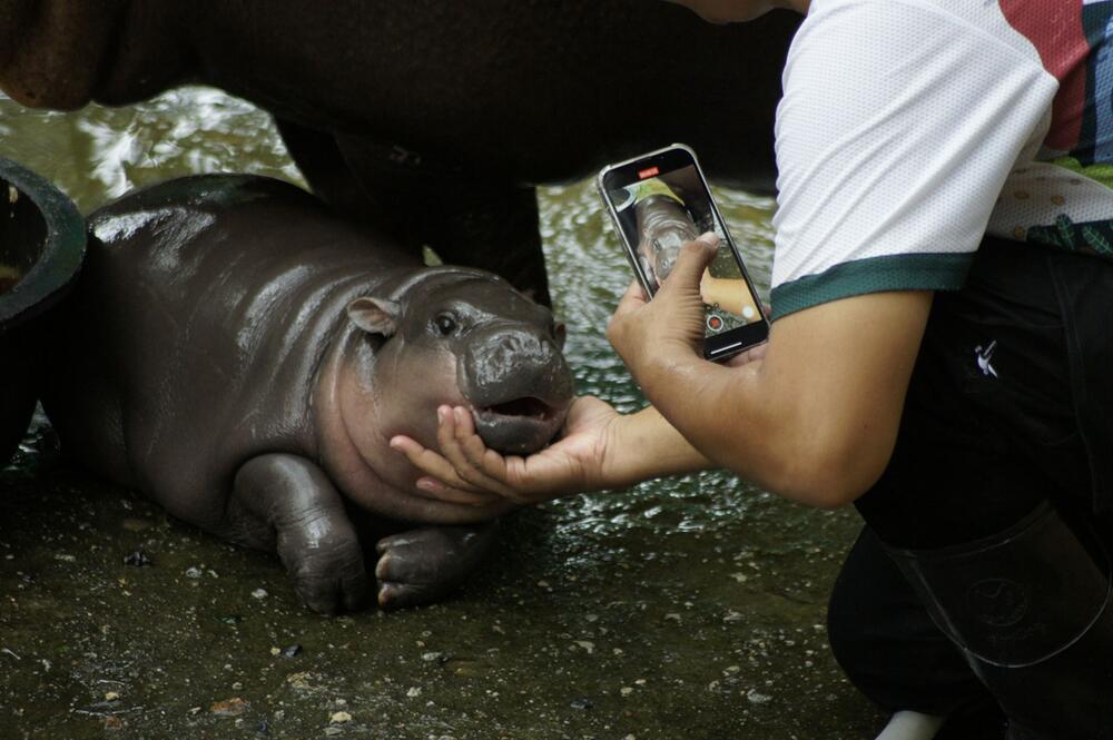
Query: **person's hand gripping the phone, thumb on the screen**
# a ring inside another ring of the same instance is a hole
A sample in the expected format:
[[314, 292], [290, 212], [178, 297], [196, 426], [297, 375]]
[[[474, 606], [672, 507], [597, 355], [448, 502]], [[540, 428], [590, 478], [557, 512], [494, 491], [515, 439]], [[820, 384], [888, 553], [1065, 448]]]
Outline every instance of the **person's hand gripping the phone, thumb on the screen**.
[[715, 258], [718, 244], [712, 233], [686, 244], [652, 300], [646, 299], [637, 282], [622, 296], [607, 338], [639, 381], [639, 375], [654, 365], [690, 355], [702, 357], [700, 278]]

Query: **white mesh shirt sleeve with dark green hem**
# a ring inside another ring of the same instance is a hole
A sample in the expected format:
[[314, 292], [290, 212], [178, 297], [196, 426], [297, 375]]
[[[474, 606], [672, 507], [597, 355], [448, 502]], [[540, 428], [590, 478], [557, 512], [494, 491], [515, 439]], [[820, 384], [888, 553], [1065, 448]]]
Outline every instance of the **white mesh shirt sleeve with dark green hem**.
[[774, 318], [962, 287], [1057, 87], [1038, 56], [930, 3], [817, 0], [777, 110]]

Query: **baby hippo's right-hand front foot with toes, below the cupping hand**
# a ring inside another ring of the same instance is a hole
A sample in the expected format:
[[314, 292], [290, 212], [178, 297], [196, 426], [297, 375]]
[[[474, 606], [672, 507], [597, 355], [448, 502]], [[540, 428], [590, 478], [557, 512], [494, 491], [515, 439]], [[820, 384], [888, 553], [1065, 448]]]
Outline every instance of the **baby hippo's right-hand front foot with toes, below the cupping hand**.
[[480, 564], [496, 524], [427, 526], [378, 541], [378, 604], [403, 609], [444, 598]]

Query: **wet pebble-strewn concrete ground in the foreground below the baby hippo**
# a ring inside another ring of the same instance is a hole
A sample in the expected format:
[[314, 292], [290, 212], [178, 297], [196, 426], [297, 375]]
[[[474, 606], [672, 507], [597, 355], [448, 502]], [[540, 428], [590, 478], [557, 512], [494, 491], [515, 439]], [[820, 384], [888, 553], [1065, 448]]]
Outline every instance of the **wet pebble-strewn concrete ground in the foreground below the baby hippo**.
[[786, 504], [758, 496], [659, 537], [679, 501], [614, 522], [571, 500], [511, 517], [444, 604], [328, 619], [276, 558], [57, 460], [26, 465], [0, 475], [3, 738], [778, 740], [879, 723], [825, 639], [825, 543], [846, 516], [769, 532]]

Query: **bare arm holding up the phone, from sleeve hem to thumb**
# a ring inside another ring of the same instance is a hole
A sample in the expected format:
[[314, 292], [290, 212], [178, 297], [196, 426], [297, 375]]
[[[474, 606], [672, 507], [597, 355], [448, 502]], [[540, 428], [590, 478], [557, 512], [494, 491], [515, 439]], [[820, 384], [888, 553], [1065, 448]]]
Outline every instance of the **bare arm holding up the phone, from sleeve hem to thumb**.
[[672, 290], [648, 304], [624, 300], [611, 342], [647, 397], [709, 460], [789, 499], [827, 507], [853, 501], [892, 454], [932, 293], [800, 310], [774, 323], [761, 362], [723, 367], [702, 359], [693, 337], [659, 330], [663, 317], [693, 310], [689, 273], [707, 251], [686, 247]]

